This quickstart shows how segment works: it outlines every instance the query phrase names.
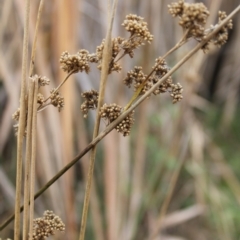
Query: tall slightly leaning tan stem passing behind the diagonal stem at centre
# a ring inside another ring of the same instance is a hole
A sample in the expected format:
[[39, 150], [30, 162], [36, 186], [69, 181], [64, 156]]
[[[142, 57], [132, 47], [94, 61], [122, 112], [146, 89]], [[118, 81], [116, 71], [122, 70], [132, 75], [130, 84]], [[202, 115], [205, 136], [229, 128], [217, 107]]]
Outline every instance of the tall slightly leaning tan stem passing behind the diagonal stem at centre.
[[[112, 33], [113, 20], [114, 20], [114, 15], [115, 15], [115, 12], [116, 12], [117, 2], [118, 2], [118, 0], [115, 0], [113, 2], [112, 11], [110, 11], [110, 5], [109, 5], [109, 11], [108, 11], [109, 12], [109, 17], [108, 17], [109, 26], [108, 26], [108, 30], [107, 30], [107, 34], [106, 34], [106, 42], [104, 44], [104, 50], [103, 50], [103, 61], [102, 61], [102, 70], [101, 70], [99, 100], [98, 100], [98, 107], [97, 107], [96, 122], [95, 122], [95, 126], [94, 126], [94, 131], [93, 131], [93, 139], [96, 138], [97, 135], [98, 135], [100, 121], [101, 121], [100, 108], [103, 105], [103, 101], [104, 101], [105, 88], [106, 88], [107, 78], [108, 78], [108, 74], [109, 74], [109, 63], [111, 61], [111, 56], [112, 56], [111, 33]], [[111, 12], [111, 15], [110, 15], [110, 12]], [[92, 151], [90, 153], [90, 165], [89, 165], [88, 174], [87, 174], [86, 192], [85, 192], [85, 195], [84, 195], [83, 213], [82, 213], [82, 221], [81, 221], [81, 229], [80, 229], [79, 240], [84, 240], [84, 237], [85, 237], [88, 206], [89, 206], [89, 201], [90, 201], [91, 185], [92, 185], [93, 170], [94, 170], [94, 163], [95, 163], [95, 156], [96, 156], [96, 146], [94, 146], [92, 148]]]

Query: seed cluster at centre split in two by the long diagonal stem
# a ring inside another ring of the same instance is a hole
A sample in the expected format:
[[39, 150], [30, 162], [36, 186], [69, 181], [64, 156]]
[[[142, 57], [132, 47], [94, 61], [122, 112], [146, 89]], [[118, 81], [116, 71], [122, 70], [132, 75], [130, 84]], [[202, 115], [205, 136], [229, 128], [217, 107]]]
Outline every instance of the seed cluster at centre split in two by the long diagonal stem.
[[[100, 109], [101, 118], [108, 121], [108, 124], [116, 120], [122, 113], [123, 108], [115, 103], [104, 104]], [[134, 124], [133, 118], [134, 111], [132, 111], [122, 122], [120, 122], [115, 129], [122, 133], [123, 136], [128, 136], [130, 134], [132, 125]]]

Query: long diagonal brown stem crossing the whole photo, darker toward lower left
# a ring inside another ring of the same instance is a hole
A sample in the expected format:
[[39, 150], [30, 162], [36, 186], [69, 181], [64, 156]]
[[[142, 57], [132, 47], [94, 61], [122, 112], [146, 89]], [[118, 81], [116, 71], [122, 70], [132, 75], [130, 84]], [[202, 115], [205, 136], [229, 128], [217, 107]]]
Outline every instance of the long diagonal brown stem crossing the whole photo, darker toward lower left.
[[[44, 193], [54, 182], [56, 182], [65, 172], [67, 172], [76, 162], [78, 162], [86, 153], [90, 151], [97, 143], [99, 143], [108, 133], [110, 133], [128, 114], [139, 106], [161, 83], [163, 83], [169, 76], [171, 76], [176, 70], [178, 70], [189, 58], [191, 58], [199, 49], [202, 48], [207, 41], [209, 41], [227, 22], [240, 11], [240, 5], [235, 8], [228, 15], [224, 21], [222, 21], [206, 38], [204, 41], [195, 46], [190, 52], [188, 52], [166, 75], [164, 75], [154, 86], [152, 86], [144, 95], [142, 95], [136, 102], [132, 104], [126, 111], [124, 111], [115, 121], [110, 123], [101, 133], [98, 134], [94, 140], [92, 140], [86, 148], [79, 153], [71, 162], [69, 162], [64, 168], [62, 168], [52, 179], [50, 179], [45, 186], [43, 186], [35, 195], [34, 199], [37, 199], [42, 193]], [[23, 206], [20, 208], [23, 210]], [[13, 219], [15, 215], [10, 216], [1, 226], [0, 231], [4, 229]]]

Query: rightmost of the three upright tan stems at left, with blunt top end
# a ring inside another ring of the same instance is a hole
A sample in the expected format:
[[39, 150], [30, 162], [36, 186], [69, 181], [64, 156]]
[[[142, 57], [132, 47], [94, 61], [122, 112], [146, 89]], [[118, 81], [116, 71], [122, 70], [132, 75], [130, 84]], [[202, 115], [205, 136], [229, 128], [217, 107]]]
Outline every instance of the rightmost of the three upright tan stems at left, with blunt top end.
[[35, 162], [37, 149], [37, 96], [38, 82], [34, 80], [34, 97], [32, 113], [32, 155], [30, 174], [30, 207], [29, 207], [29, 240], [33, 239], [33, 219], [34, 219], [34, 188], [35, 188]]

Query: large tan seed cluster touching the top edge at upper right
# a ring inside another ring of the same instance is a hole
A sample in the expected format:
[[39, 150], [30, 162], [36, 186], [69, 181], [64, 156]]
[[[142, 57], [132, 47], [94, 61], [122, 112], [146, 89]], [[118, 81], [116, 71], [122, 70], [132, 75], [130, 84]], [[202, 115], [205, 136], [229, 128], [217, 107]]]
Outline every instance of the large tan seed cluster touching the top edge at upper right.
[[185, 3], [179, 0], [168, 5], [168, 9], [173, 17], [179, 17], [179, 25], [189, 31], [187, 37], [194, 37], [197, 40], [204, 37], [209, 11], [203, 3]]

